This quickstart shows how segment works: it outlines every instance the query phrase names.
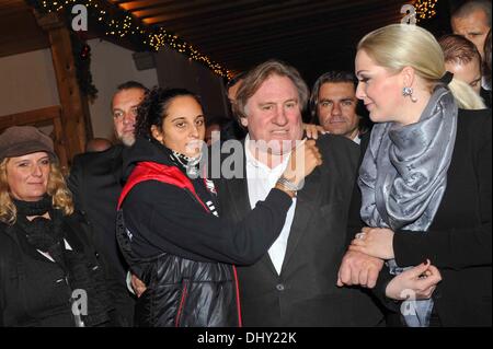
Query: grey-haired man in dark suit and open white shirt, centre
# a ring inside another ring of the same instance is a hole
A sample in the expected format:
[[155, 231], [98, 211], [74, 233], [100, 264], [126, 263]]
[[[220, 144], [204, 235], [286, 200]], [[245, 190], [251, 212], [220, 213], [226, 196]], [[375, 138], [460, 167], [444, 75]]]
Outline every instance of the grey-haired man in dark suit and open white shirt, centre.
[[[221, 217], [243, 219], [275, 185], [303, 136], [308, 94], [296, 69], [279, 61], [245, 75], [234, 105], [249, 131], [244, 167], [240, 178], [216, 181]], [[245, 326], [374, 326], [382, 319], [362, 289], [336, 287], [358, 147], [331, 135], [317, 144], [323, 164], [297, 191], [279, 237], [260, 261], [238, 267]]]

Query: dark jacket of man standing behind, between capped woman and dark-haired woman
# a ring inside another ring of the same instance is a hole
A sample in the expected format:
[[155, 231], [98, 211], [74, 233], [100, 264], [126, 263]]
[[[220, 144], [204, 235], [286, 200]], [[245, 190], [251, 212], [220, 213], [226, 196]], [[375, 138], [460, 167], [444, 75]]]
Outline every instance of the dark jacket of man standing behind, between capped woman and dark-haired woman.
[[133, 322], [134, 300], [126, 288], [127, 264], [116, 243], [116, 203], [122, 191], [123, 146], [103, 152], [83, 153], [73, 158], [68, 185], [76, 209], [92, 225], [98, 251], [103, 255], [112, 277], [111, 292], [118, 314], [115, 325]]

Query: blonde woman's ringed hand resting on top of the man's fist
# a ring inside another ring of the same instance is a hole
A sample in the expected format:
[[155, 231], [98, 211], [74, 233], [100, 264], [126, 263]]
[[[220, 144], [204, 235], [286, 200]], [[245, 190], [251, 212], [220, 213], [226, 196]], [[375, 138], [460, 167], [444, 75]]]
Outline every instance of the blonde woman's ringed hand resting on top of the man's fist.
[[365, 226], [351, 242], [349, 251], [376, 258], [393, 259], [393, 231], [387, 228]]

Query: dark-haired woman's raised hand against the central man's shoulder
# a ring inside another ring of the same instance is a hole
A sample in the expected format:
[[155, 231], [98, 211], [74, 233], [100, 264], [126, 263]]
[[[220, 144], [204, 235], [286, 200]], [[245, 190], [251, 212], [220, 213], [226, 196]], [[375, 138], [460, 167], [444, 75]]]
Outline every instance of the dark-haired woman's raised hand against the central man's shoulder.
[[290, 183], [299, 184], [317, 166], [322, 164], [322, 155], [314, 140], [303, 139], [293, 151], [289, 163], [283, 173], [283, 176]]

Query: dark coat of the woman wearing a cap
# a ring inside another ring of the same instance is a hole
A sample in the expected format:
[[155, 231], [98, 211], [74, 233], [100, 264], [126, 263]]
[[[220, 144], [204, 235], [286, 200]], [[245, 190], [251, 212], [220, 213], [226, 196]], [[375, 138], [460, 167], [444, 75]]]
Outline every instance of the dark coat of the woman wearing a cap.
[[[77, 254], [84, 260], [84, 275], [96, 287], [93, 294], [98, 300], [88, 296], [89, 315], [98, 314], [98, 318], [107, 321], [111, 304], [104, 263], [94, 249], [90, 228], [79, 214], [65, 217], [64, 221], [64, 237], [72, 248], [64, 253]], [[58, 264], [27, 242], [19, 224], [0, 223], [0, 326], [74, 326], [70, 303], [73, 290], [68, 279], [70, 276]]]

